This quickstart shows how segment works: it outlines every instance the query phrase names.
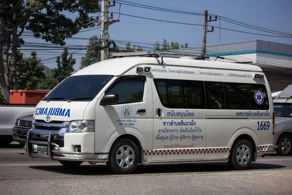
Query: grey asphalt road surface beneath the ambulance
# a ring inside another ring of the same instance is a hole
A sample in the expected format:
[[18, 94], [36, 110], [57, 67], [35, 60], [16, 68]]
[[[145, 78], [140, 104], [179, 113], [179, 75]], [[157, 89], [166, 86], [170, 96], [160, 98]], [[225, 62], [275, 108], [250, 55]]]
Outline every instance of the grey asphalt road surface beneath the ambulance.
[[258, 157], [247, 171], [231, 170], [227, 163], [141, 165], [118, 176], [105, 164], [69, 169], [23, 152], [18, 144], [0, 148], [1, 195], [292, 194], [292, 155]]

